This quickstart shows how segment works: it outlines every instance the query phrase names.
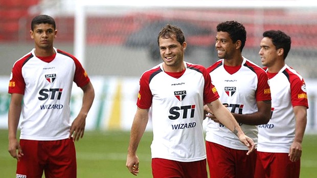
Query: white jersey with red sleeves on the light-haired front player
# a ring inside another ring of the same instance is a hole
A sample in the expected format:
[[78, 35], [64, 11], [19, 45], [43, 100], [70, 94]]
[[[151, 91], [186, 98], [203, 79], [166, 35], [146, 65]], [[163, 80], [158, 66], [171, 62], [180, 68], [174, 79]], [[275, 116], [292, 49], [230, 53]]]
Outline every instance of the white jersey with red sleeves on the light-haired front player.
[[180, 162], [206, 159], [203, 102], [219, 97], [210, 76], [205, 67], [185, 63], [185, 72], [175, 78], [163, 71], [162, 65], [142, 74], [137, 101], [141, 109], [152, 107], [152, 158]]

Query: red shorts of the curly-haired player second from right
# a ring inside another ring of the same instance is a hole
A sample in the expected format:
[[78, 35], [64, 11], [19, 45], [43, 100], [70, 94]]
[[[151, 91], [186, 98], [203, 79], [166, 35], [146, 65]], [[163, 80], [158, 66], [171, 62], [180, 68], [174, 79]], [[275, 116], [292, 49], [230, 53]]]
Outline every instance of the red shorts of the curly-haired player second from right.
[[210, 177], [253, 178], [256, 151], [247, 156], [247, 150], [232, 149], [208, 141], [206, 150]]

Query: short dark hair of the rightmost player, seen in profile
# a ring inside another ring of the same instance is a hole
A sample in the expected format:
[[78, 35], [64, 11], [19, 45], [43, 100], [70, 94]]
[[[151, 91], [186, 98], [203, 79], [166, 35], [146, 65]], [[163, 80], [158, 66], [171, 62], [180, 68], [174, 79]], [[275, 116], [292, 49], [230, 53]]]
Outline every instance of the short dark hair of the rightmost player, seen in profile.
[[276, 49], [284, 49], [284, 60], [286, 59], [290, 50], [291, 39], [290, 36], [286, 35], [280, 30], [268, 30], [263, 33], [263, 37], [270, 38]]

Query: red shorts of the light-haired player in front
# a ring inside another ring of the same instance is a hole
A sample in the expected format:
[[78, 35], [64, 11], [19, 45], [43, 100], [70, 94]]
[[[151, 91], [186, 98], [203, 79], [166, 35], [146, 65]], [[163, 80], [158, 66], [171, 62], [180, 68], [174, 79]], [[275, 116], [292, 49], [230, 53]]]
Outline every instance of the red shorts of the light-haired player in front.
[[161, 158], [152, 159], [153, 178], [207, 178], [206, 159], [194, 162], [179, 162]]

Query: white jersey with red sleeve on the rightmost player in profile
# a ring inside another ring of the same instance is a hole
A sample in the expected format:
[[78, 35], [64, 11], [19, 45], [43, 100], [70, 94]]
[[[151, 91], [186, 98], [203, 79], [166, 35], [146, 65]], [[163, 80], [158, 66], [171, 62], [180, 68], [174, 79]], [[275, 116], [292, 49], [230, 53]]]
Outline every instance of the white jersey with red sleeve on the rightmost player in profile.
[[301, 75], [287, 65], [268, 76], [272, 112], [269, 122], [259, 125], [258, 151], [288, 153], [295, 138], [293, 107], [308, 108], [306, 84]]

